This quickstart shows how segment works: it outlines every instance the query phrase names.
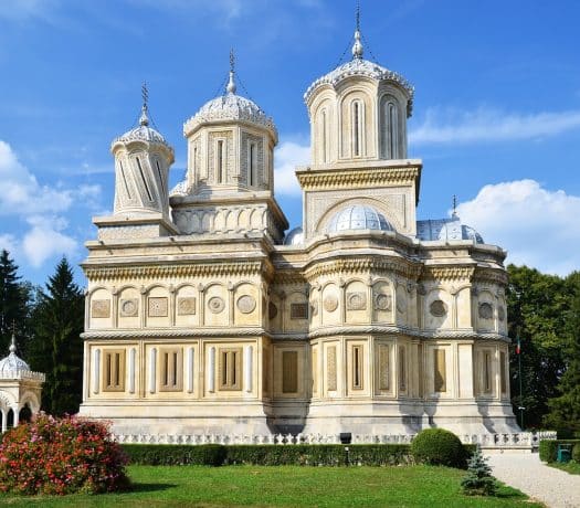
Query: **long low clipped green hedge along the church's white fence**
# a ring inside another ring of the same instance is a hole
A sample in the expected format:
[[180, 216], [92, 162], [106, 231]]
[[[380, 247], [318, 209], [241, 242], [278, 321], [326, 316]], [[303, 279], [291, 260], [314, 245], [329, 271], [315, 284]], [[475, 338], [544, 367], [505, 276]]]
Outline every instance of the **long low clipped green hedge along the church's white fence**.
[[[413, 463], [410, 445], [149, 445], [124, 444], [131, 464], [259, 465], [259, 466], [386, 466]], [[464, 445], [471, 456], [474, 445]]]

